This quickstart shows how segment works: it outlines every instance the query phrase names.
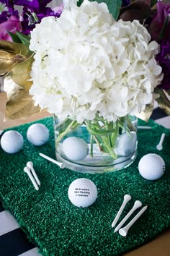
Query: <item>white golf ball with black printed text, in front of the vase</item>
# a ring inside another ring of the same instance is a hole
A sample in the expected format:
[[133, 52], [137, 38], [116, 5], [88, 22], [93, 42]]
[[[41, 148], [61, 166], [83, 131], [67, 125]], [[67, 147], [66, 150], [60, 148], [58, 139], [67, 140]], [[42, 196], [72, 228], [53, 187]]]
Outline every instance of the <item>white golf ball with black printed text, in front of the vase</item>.
[[77, 207], [89, 207], [97, 200], [97, 187], [90, 179], [76, 179], [68, 188], [68, 198]]

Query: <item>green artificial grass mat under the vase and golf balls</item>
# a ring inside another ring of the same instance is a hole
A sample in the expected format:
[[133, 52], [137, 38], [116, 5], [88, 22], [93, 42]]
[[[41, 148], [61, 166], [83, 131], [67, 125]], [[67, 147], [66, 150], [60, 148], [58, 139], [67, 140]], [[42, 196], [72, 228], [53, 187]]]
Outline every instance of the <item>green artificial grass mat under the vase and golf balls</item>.
[[[42, 152], [55, 158], [53, 118], [37, 122], [50, 129], [46, 145], [31, 145], [26, 137], [30, 124], [24, 124], [13, 128], [24, 137], [23, 150], [9, 155], [0, 149], [0, 196], [4, 207], [14, 214], [27, 236], [40, 247], [42, 255], [122, 255], [154, 239], [170, 226], [169, 129], [149, 121], [147, 125], [153, 129], [138, 130], [138, 157], [131, 166], [107, 174], [81, 174], [60, 169], [40, 157]], [[158, 151], [156, 145], [162, 132], [166, 133], [164, 149]], [[138, 173], [138, 162], [147, 153], [157, 153], [164, 158], [166, 172], [161, 179], [148, 181]], [[38, 191], [23, 171], [27, 161], [34, 163], [40, 179]], [[97, 201], [89, 208], [77, 208], [68, 199], [69, 185], [81, 177], [97, 185]], [[120, 220], [135, 200], [148, 205], [148, 209], [131, 227], [128, 236], [123, 237], [114, 233], [111, 224], [125, 194], [130, 194], [132, 200]]]

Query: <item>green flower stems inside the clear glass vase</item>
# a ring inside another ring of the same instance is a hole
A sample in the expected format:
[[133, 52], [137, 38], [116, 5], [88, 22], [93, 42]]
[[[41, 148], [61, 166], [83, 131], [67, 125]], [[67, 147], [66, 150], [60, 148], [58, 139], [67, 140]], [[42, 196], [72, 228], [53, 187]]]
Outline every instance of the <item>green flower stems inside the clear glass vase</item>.
[[[127, 132], [127, 134], [130, 135], [130, 131], [135, 130], [128, 116], [117, 119], [115, 122], [106, 121], [102, 117], [97, 116], [93, 121], [86, 120], [83, 124], [86, 125], [86, 129], [90, 134], [91, 157], [93, 157], [93, 144], [96, 142], [99, 150], [103, 150], [114, 159], [117, 158], [117, 154], [115, 152], [117, 138], [122, 134], [122, 132]], [[81, 125], [82, 124], [79, 124], [76, 120], [72, 120], [70, 118], [67, 118], [61, 123], [55, 125], [55, 128], [59, 133], [55, 142], [56, 145], [58, 145], [58, 142], [60, 142], [68, 132], [72, 132]]]

